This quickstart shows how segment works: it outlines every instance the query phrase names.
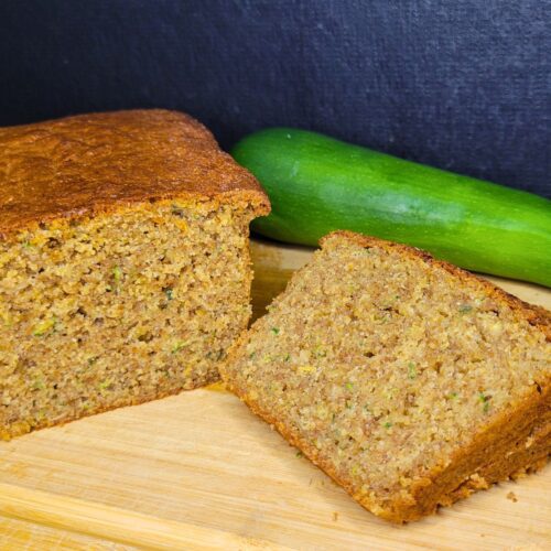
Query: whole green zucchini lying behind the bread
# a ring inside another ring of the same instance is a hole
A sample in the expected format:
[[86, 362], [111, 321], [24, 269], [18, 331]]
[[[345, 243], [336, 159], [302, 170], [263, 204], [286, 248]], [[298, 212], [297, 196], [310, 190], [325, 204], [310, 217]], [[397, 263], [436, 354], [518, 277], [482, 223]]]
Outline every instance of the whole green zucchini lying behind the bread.
[[249, 134], [231, 151], [267, 191], [252, 229], [317, 245], [349, 229], [430, 251], [463, 268], [551, 287], [551, 202], [292, 128]]

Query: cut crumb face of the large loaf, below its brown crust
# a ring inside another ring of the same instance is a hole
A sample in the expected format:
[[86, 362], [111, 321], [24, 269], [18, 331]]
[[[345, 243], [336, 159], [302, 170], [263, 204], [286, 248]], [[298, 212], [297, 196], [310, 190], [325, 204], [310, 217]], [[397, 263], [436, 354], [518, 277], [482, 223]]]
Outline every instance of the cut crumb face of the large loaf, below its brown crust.
[[0, 436], [215, 381], [251, 313], [255, 212], [148, 201], [0, 241]]

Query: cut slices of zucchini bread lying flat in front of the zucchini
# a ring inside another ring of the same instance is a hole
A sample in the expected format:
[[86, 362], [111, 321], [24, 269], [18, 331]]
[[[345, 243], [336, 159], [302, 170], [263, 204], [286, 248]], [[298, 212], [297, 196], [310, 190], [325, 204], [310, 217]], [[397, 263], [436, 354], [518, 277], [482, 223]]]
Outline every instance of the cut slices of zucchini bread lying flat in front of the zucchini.
[[375, 515], [402, 522], [543, 466], [551, 318], [410, 247], [335, 233], [223, 378]]

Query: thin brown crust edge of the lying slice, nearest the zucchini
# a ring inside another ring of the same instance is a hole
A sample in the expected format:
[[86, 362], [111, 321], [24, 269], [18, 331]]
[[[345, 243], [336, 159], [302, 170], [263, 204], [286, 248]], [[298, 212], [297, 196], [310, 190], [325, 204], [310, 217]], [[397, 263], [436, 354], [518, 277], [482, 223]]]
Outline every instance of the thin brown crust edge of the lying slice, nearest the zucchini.
[[401, 245], [393, 241], [387, 241], [386, 239], [379, 239], [378, 237], [355, 234], [354, 231], [332, 231], [331, 234], [327, 234], [320, 239], [320, 246], [324, 249], [333, 246], [338, 247], [338, 245], [343, 242], [343, 240], [359, 245], [360, 247], [380, 247], [388, 251], [397, 250], [403, 255], [409, 255], [410, 257], [418, 257], [428, 264], [443, 268], [447, 272], [460, 278], [463, 282], [471, 283], [478, 287], [479, 289], [483, 289], [494, 299], [514, 309], [530, 325], [538, 327], [545, 335], [547, 341], [551, 341], [551, 312], [542, 306], [537, 306], [534, 304], [529, 304], [528, 302], [521, 301], [517, 296], [514, 296], [512, 294], [509, 294], [503, 289], [494, 285], [494, 283], [491, 283], [490, 281], [478, 278], [474, 273], [467, 272], [466, 270], [451, 264], [450, 262], [436, 260], [431, 255], [429, 255], [429, 252], [425, 252], [424, 250], [418, 249], [415, 247], [410, 247], [408, 245]]

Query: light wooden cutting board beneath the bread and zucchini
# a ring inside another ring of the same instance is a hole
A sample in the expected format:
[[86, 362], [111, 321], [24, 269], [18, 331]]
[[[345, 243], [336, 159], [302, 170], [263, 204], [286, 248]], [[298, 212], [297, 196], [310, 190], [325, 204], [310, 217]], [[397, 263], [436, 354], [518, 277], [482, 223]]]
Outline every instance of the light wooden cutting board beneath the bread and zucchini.
[[[252, 244], [256, 315], [311, 255]], [[133, 547], [551, 549], [551, 467], [392, 526], [219, 385], [0, 443], [0, 549]]]

